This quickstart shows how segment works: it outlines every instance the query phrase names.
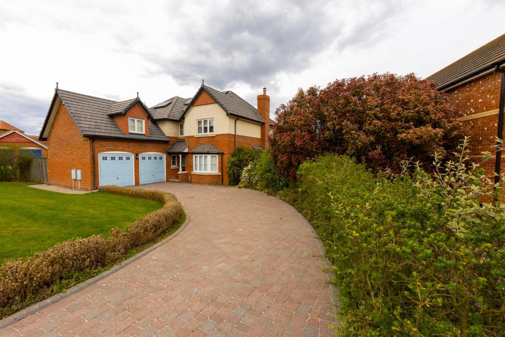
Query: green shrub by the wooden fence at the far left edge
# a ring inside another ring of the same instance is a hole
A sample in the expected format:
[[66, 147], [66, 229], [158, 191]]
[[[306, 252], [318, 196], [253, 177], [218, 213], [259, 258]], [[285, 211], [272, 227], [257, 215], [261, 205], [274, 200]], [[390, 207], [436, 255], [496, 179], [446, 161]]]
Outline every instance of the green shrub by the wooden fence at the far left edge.
[[0, 181], [19, 181], [33, 161], [31, 153], [18, 147], [0, 148]]

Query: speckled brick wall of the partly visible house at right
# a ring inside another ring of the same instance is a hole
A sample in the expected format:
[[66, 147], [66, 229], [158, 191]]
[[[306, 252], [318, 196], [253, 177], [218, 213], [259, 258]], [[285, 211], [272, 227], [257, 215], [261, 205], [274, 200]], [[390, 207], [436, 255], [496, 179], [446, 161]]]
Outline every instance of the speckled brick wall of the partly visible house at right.
[[[495, 157], [482, 163], [482, 151], [493, 151], [498, 129], [498, 107], [501, 74], [493, 72], [474, 81], [446, 91], [451, 103], [461, 111], [460, 119], [471, 130], [471, 159], [481, 165], [486, 175], [492, 175]], [[505, 171], [502, 156], [501, 171]]]

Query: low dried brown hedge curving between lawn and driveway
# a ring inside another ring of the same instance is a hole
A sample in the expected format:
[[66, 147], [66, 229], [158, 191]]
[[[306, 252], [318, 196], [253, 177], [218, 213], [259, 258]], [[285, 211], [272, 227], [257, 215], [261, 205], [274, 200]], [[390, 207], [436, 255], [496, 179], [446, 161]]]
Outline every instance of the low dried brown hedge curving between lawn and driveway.
[[30, 294], [58, 283], [70, 271], [106, 266], [125, 256], [128, 250], [154, 240], [182, 214], [182, 206], [173, 194], [118, 186], [99, 189], [164, 205], [137, 219], [126, 230], [112, 228], [107, 239], [102, 234], [70, 239], [27, 259], [6, 261], [0, 265], [0, 308], [24, 302]]

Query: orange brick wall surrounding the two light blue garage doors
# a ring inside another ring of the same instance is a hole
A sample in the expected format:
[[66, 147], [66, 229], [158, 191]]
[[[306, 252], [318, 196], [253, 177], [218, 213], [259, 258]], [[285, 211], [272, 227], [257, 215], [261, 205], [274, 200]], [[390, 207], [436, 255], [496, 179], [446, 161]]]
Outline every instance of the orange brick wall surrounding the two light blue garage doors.
[[[139, 141], [139, 140], [120, 140], [120, 139], [95, 139], [95, 174], [96, 174], [96, 185], [99, 183], [99, 173], [98, 173], [98, 156], [103, 152], [128, 152], [133, 154], [133, 168], [135, 173], [135, 185], [140, 185], [140, 174], [139, 174], [139, 161], [136, 155], [140, 155], [144, 152], [158, 152], [161, 154], [166, 154], [169, 145], [168, 142], [159, 141]], [[170, 168], [170, 158], [165, 157], [166, 171]]]

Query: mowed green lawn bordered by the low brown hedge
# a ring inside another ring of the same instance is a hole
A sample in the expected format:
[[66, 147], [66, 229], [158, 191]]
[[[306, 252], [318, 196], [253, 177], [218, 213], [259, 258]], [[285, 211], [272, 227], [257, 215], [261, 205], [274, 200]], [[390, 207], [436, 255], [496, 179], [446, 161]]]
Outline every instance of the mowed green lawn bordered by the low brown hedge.
[[105, 192], [69, 195], [0, 182], [0, 264], [24, 258], [70, 238], [107, 235], [162, 203]]

